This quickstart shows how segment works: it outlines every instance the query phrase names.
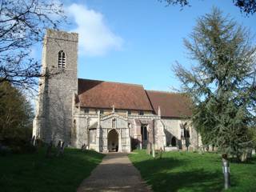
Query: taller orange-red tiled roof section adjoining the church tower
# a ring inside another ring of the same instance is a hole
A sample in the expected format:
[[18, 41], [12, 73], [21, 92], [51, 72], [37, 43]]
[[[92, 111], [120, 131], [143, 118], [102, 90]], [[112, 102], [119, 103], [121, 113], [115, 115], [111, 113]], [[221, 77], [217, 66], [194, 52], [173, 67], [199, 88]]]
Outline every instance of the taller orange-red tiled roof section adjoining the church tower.
[[78, 78], [80, 106], [123, 110], [153, 110], [141, 85]]

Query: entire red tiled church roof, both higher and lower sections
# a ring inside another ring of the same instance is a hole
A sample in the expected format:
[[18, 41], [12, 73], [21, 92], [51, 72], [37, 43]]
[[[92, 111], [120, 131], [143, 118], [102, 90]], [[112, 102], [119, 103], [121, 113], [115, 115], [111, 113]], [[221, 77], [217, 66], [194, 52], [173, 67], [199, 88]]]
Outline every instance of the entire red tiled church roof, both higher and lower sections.
[[154, 110], [166, 118], [190, 117], [191, 101], [185, 94], [144, 90], [143, 86], [78, 78], [80, 106], [100, 109]]

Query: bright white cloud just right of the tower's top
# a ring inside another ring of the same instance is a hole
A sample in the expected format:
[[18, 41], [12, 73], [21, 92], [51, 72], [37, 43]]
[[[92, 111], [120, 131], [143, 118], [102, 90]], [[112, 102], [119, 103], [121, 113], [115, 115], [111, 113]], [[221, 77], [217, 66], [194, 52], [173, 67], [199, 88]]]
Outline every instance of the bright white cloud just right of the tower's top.
[[106, 26], [101, 13], [75, 3], [68, 6], [68, 12], [77, 24], [72, 31], [79, 34], [80, 54], [102, 55], [122, 48], [123, 39]]

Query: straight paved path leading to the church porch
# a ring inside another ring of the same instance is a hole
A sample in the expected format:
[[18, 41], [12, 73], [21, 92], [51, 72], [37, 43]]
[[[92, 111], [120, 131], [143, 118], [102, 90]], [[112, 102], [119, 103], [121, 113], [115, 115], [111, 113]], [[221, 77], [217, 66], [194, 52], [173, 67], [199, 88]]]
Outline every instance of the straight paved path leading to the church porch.
[[99, 164], [78, 188], [78, 192], [150, 192], [150, 188], [143, 182], [138, 170], [132, 165], [127, 154], [106, 154]]

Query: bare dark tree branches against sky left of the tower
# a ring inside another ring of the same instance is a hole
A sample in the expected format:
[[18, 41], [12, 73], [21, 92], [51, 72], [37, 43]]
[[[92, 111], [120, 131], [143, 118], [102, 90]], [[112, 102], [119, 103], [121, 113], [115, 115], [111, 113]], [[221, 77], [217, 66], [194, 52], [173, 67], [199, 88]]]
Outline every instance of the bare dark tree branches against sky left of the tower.
[[62, 4], [54, 0], [2, 0], [0, 5], [0, 84], [11, 82], [34, 90], [44, 74], [30, 52], [42, 42], [46, 29], [58, 30], [66, 23]]

